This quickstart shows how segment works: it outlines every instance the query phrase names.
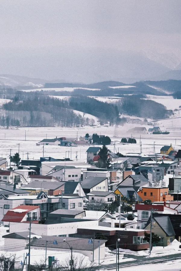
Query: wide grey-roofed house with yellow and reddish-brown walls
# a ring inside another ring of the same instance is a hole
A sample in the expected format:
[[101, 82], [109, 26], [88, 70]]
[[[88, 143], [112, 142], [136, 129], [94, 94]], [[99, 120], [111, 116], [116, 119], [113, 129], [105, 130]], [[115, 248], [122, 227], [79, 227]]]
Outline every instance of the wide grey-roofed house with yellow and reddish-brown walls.
[[43, 191], [46, 195], [56, 196], [64, 193], [64, 182], [34, 181], [21, 187], [30, 192], [29, 195], [39, 195]]

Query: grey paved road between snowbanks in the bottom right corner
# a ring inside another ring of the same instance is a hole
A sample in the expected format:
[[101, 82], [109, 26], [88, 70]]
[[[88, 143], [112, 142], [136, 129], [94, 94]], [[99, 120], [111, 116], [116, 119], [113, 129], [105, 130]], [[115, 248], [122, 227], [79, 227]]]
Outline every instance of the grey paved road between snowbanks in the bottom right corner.
[[[171, 254], [171, 255], [161, 256], [161, 257], [151, 257], [151, 258], [148, 258], [148, 257], [143, 258], [140, 256], [140, 259], [119, 263], [119, 269], [122, 269], [123, 267], [128, 267], [128, 266], [137, 266], [137, 265], [149, 264], [149, 263], [163, 263], [163, 262], [178, 260], [178, 259], [181, 259], [181, 253]], [[108, 269], [108, 270], [116, 269], [116, 263], [101, 265], [100, 269]]]

